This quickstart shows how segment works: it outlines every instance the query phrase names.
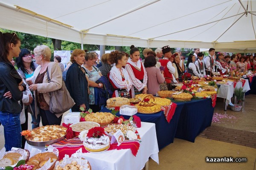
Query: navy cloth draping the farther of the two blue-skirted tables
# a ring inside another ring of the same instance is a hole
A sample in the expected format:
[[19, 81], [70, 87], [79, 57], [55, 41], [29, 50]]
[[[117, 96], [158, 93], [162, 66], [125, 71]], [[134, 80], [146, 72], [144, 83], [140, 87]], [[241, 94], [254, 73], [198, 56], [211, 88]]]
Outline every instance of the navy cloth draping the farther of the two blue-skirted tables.
[[211, 126], [213, 111], [211, 98], [186, 102], [180, 113], [175, 137], [195, 142], [196, 136]]

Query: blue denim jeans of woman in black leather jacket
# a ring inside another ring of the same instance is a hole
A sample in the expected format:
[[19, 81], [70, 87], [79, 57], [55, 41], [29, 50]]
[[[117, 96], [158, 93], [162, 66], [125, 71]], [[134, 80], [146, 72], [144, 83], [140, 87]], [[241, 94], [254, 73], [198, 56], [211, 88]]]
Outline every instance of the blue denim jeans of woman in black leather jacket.
[[0, 111], [0, 122], [3, 125], [4, 147], [6, 151], [12, 147], [21, 147], [21, 126], [20, 126], [20, 113], [9, 113]]

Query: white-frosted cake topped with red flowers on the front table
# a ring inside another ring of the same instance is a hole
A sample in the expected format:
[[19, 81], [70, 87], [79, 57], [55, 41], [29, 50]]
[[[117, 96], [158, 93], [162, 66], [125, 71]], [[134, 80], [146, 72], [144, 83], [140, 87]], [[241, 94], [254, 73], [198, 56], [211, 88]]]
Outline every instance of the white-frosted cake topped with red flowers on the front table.
[[[83, 140], [83, 145], [90, 152], [100, 152], [108, 149], [110, 146], [109, 137], [105, 135], [104, 128], [93, 127], [79, 137]], [[83, 131], [84, 132], [84, 131]], [[81, 133], [80, 133], [81, 134]]]

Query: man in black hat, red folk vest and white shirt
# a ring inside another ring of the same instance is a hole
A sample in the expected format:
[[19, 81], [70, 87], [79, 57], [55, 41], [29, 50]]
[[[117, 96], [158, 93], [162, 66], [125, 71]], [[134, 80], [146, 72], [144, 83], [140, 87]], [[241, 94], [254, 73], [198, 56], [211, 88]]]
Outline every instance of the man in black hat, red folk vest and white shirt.
[[168, 86], [168, 90], [172, 90], [172, 82], [177, 82], [174, 79], [173, 74], [175, 73], [175, 68], [172, 66], [172, 62], [169, 61], [169, 58], [172, 57], [171, 48], [169, 45], [164, 46], [162, 48], [163, 52], [163, 59], [159, 59], [159, 62], [161, 63], [161, 66], [164, 67], [163, 75], [166, 79], [166, 83]]

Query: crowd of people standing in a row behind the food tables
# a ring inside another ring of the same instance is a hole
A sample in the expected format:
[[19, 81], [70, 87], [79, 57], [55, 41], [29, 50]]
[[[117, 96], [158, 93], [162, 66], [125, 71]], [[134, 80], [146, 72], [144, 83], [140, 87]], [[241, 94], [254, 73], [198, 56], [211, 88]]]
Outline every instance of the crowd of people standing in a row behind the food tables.
[[48, 46], [38, 45], [32, 56], [29, 50], [20, 50], [20, 45], [17, 34], [0, 32], [0, 124], [4, 127], [6, 151], [24, 148], [25, 139], [20, 133], [28, 129], [28, 113], [32, 129], [39, 127], [40, 122], [61, 124], [63, 113], [50, 112], [49, 105], [50, 93], [61, 89], [63, 80], [75, 101], [73, 112], [81, 108], [97, 112], [110, 97], [134, 98], [136, 94], [156, 95], [157, 91], [171, 90], [173, 83], [182, 82], [185, 72], [204, 77], [213, 70], [227, 74], [229, 68], [242, 72], [256, 69], [256, 56], [215, 55], [214, 48], [209, 49], [206, 57], [195, 48], [185, 66], [180, 53], [172, 54], [168, 45], [155, 51], [145, 48], [143, 60], [141, 51], [131, 45], [130, 54], [112, 51], [103, 54], [101, 62], [95, 52], [75, 49], [64, 68], [59, 56], [50, 61], [52, 53]]

